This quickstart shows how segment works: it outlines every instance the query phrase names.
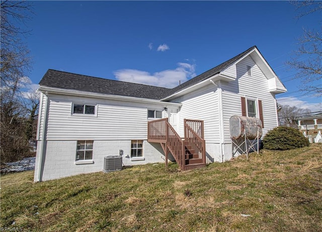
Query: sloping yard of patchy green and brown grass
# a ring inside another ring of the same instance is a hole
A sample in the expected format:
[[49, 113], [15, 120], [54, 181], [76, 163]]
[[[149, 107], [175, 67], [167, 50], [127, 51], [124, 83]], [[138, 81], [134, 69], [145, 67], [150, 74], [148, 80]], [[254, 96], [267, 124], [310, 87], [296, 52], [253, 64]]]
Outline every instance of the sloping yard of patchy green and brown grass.
[[1, 176], [1, 226], [26, 231], [322, 231], [322, 145], [182, 172], [134, 166], [33, 183]]

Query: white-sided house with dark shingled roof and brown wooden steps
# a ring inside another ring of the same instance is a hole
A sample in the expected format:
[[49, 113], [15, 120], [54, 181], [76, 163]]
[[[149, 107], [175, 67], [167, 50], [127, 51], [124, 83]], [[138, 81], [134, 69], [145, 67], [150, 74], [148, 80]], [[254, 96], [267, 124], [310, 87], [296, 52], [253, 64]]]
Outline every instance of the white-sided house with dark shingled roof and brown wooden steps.
[[35, 181], [102, 171], [119, 154], [125, 166], [224, 162], [230, 117], [261, 119], [265, 135], [278, 126], [275, 94], [286, 91], [256, 46], [173, 89], [49, 69], [39, 90]]

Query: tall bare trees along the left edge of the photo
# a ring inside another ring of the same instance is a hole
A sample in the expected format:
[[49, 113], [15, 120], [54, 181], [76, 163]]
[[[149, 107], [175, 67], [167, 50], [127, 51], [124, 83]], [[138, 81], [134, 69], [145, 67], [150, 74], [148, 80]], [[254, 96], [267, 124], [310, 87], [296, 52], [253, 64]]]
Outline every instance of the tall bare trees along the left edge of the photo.
[[31, 2], [1, 1], [1, 164], [29, 155], [26, 136], [28, 101], [25, 87], [31, 59], [23, 37], [28, 35], [22, 25], [29, 20]]

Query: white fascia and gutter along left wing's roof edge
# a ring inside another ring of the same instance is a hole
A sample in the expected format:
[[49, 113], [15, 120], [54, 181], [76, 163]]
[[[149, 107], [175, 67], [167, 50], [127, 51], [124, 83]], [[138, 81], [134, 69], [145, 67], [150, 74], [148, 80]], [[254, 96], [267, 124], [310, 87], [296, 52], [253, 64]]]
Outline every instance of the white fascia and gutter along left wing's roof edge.
[[164, 102], [162, 100], [155, 100], [155, 99], [148, 99], [148, 98], [95, 93], [95, 92], [86, 92], [86, 91], [81, 91], [81, 90], [54, 88], [54, 87], [47, 87], [47, 86], [42, 86], [42, 85], [39, 86], [39, 91], [62, 94], [62, 95], [103, 98], [103, 99], [118, 100], [118, 101], [130, 101], [130, 102], [162, 104], [162, 105], [167, 104], [169, 106], [171, 105], [171, 106], [178, 106], [178, 107], [182, 106], [182, 103], [178, 103], [178, 102]]

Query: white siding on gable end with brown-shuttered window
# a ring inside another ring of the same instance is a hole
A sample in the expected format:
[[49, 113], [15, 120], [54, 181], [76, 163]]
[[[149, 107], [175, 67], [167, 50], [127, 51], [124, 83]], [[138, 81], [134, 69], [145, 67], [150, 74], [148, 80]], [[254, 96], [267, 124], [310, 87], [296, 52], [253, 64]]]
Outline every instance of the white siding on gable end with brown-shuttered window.
[[[247, 65], [252, 66], [252, 76], [247, 75]], [[232, 115], [241, 115], [240, 97], [262, 100], [264, 125], [263, 135], [277, 126], [276, 101], [268, 90], [268, 80], [251, 57], [236, 64], [237, 79], [222, 82], [223, 117], [225, 141], [230, 141], [229, 119]], [[258, 102], [258, 101], [257, 101]], [[257, 109], [258, 111], [258, 109]], [[258, 113], [258, 112], [257, 112]]]

